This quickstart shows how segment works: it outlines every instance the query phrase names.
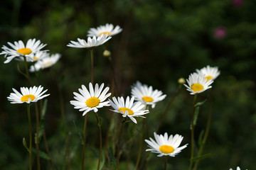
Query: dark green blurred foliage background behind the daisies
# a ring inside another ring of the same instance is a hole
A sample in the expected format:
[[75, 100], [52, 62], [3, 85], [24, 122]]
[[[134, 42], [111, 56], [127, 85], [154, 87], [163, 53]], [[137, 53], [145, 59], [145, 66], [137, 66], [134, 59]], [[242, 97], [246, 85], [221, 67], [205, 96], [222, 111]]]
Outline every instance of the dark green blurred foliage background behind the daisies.
[[[110, 62], [102, 55], [104, 50], [110, 50], [117, 81], [114, 96], [129, 96], [131, 85], [137, 80], [167, 95], [149, 113], [149, 133], [145, 138], [153, 137], [159, 118], [178, 89], [178, 79], [187, 79], [196, 69], [207, 65], [216, 66], [221, 74], [213, 88], [198, 95], [198, 101], [211, 100], [201, 106], [196, 140], [206, 128], [209, 105], [212, 105], [210, 134], [203, 150], [203, 154], [210, 153], [210, 157], [203, 159], [198, 169], [235, 169], [236, 166], [256, 169], [255, 13], [256, 1], [252, 0], [4, 0], [0, 6], [0, 45], [36, 38], [47, 44], [44, 50], [62, 55], [57, 64], [40, 73], [40, 84], [50, 93], [44, 123], [55, 169], [80, 169], [82, 145], [78, 132], [82, 133], [84, 117], [70, 101], [74, 91], [90, 82], [90, 51], [66, 45], [77, 38], [86, 40], [87, 30], [105, 23], [119, 25], [123, 30], [105, 45], [95, 48], [95, 82], [112, 86]], [[28, 86], [28, 82], [17, 70], [17, 64], [23, 69], [22, 63], [12, 60], [4, 64], [4, 61], [1, 55], [0, 169], [28, 169], [28, 152], [22, 145], [23, 137], [28, 140], [26, 106], [11, 104], [6, 98], [12, 88]], [[37, 85], [34, 74], [31, 77]], [[65, 123], [60, 115], [60, 91]], [[190, 143], [192, 106], [193, 96], [182, 86], [159, 133], [178, 133], [184, 137], [181, 145]], [[33, 109], [32, 106], [31, 111]], [[102, 108], [100, 115], [103, 145], [110, 134], [108, 142], [114, 146], [121, 116], [110, 112], [109, 108]], [[32, 119], [35, 120], [35, 115]], [[136, 164], [139, 137], [134, 134], [141, 128], [142, 119], [138, 121], [137, 126], [133, 123], [124, 126], [124, 144], [132, 136], [135, 139], [123, 147], [122, 169], [134, 169]], [[96, 123], [90, 112], [87, 169], [94, 169], [97, 164]], [[108, 133], [110, 124], [113, 126]], [[40, 148], [46, 152], [42, 141]], [[144, 143], [142, 155], [146, 148]], [[106, 153], [108, 150], [109, 147], [105, 147]], [[131, 154], [127, 150], [131, 150]], [[149, 155], [148, 169], [164, 168], [163, 157]], [[33, 157], [36, 167], [36, 155]], [[188, 169], [189, 157], [188, 145], [176, 157], [169, 158], [170, 169]], [[105, 169], [111, 169], [110, 158], [107, 158]], [[47, 159], [41, 158], [41, 169], [51, 167]]]

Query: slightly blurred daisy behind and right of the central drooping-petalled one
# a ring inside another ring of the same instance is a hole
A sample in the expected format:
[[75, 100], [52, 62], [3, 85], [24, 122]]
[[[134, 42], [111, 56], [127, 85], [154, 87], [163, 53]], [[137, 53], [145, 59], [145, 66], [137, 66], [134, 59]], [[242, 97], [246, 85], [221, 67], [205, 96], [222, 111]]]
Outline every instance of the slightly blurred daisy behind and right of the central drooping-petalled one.
[[137, 101], [141, 101], [145, 105], [151, 105], [152, 108], [156, 106], [157, 102], [166, 98], [166, 95], [163, 95], [161, 91], [153, 90], [152, 86], [147, 86], [139, 81], [132, 86], [132, 96], [134, 96]]

